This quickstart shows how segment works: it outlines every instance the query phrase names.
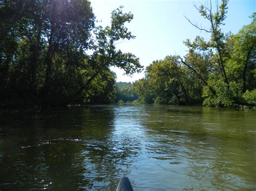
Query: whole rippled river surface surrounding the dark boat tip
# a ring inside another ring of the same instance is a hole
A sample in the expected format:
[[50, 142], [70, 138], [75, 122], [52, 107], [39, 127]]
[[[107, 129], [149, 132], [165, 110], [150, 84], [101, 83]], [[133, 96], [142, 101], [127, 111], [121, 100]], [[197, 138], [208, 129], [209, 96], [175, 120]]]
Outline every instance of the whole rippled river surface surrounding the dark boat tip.
[[95, 105], [0, 112], [0, 190], [256, 189], [256, 112]]

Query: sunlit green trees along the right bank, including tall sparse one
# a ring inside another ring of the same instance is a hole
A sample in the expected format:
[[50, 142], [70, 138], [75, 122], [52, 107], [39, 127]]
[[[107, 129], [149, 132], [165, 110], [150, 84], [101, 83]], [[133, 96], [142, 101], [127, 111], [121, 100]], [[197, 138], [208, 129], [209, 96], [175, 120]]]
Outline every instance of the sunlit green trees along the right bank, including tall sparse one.
[[224, 34], [221, 25], [226, 18], [227, 2], [223, 0], [215, 13], [201, 5], [198, 11], [210, 25], [199, 30], [211, 34], [206, 41], [197, 36], [186, 40], [188, 53], [166, 56], [146, 68], [146, 76], [135, 84], [140, 102], [163, 104], [203, 103], [214, 107], [237, 107], [256, 103], [256, 13], [252, 23], [238, 34]]

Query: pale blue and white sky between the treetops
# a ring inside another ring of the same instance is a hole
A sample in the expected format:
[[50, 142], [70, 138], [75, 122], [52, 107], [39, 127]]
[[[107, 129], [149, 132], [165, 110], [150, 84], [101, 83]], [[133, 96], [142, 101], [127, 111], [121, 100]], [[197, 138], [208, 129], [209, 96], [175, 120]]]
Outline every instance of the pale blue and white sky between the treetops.
[[[210, 2], [210, 0], [208, 1]], [[220, 2], [220, 1], [219, 1]], [[206, 0], [91, 0], [93, 12], [99, 25], [110, 25], [111, 11], [123, 5], [124, 12], [133, 14], [131, 23], [126, 27], [136, 36], [135, 39], [126, 40], [118, 44], [123, 52], [135, 54], [140, 64], [149, 66], [154, 60], [164, 59], [167, 55], [186, 54], [187, 48], [183, 44], [186, 39], [193, 40], [196, 36], [209, 39], [209, 33], [200, 31], [192, 26], [185, 18], [190, 18], [205, 29], [210, 25], [194, 5], [206, 4]], [[215, 1], [212, 1], [215, 4]], [[221, 28], [224, 33], [231, 31], [237, 33], [242, 26], [250, 24], [249, 18], [256, 12], [256, 0], [230, 0], [228, 2], [227, 18]], [[144, 77], [144, 72], [123, 75], [119, 68], [111, 68], [117, 74], [117, 82], [133, 82]]]

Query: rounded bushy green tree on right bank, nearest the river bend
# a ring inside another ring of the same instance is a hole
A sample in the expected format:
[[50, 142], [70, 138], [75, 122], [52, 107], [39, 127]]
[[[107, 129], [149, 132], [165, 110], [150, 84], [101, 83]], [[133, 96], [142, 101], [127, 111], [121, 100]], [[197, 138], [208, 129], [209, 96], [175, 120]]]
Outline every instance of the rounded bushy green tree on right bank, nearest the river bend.
[[139, 100], [145, 103], [191, 104], [201, 102], [202, 84], [183, 66], [178, 56], [166, 56], [146, 68], [144, 79], [135, 83]]

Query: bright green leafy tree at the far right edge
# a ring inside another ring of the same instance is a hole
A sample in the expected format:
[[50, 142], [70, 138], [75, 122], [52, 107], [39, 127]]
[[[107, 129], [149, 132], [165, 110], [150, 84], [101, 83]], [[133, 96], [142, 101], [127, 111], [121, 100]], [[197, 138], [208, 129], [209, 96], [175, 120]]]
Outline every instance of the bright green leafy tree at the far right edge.
[[255, 81], [255, 46], [256, 46], [256, 13], [252, 15], [252, 23], [245, 25], [242, 29], [231, 36], [232, 41], [231, 58], [228, 60], [228, 75], [238, 83], [242, 83], [242, 93], [253, 90]]

